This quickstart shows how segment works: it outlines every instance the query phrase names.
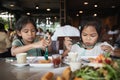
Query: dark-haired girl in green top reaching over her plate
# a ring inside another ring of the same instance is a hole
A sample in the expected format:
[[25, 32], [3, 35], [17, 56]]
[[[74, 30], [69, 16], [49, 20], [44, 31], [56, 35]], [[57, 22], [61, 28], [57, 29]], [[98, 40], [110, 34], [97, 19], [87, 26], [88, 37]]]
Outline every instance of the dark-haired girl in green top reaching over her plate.
[[36, 25], [30, 17], [21, 17], [15, 26], [18, 39], [12, 42], [12, 55], [27, 52], [28, 56], [40, 56], [41, 51], [51, 45], [50, 36], [48, 39], [36, 38]]

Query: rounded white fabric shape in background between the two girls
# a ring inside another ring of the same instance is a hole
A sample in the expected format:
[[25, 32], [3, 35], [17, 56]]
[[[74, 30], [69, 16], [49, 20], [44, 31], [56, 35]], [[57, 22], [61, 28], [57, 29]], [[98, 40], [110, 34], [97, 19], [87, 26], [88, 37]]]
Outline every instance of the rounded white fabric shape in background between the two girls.
[[80, 36], [80, 31], [75, 27], [65, 25], [64, 27], [57, 28], [51, 39], [56, 41], [57, 37], [60, 36]]

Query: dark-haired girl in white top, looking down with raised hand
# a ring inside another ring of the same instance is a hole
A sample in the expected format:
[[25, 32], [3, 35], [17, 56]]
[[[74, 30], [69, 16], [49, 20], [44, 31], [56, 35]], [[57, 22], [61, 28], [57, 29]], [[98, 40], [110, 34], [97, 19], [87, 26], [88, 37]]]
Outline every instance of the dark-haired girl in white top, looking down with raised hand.
[[65, 38], [64, 44], [66, 50], [63, 56], [68, 52], [77, 52], [80, 56], [98, 56], [99, 54], [112, 53], [113, 47], [107, 42], [100, 42], [101, 24], [96, 18], [87, 18], [81, 22], [80, 39], [81, 42], [72, 44], [69, 37]]

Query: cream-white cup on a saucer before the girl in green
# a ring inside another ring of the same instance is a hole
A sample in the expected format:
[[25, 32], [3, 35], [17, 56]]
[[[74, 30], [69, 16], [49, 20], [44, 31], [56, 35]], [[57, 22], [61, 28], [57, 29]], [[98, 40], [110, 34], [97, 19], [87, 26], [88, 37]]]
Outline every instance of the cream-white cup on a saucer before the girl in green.
[[27, 53], [16, 54], [17, 63], [18, 64], [24, 64], [24, 63], [26, 63], [26, 56], [27, 56]]

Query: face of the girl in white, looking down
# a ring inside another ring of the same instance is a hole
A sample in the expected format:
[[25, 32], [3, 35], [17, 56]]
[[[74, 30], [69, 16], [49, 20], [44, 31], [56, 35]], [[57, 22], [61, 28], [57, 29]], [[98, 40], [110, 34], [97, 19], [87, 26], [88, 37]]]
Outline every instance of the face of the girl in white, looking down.
[[83, 29], [81, 37], [84, 45], [93, 46], [97, 42], [98, 33], [93, 26], [87, 26]]

